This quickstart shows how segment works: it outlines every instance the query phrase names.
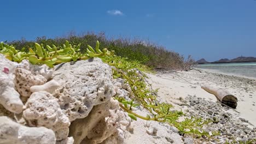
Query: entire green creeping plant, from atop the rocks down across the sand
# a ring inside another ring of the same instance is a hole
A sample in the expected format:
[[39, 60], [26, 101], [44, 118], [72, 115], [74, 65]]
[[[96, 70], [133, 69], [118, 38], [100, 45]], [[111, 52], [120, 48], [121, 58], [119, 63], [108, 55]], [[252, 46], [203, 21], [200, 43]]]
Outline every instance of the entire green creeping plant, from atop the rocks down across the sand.
[[[179, 130], [181, 135], [194, 134], [197, 137], [203, 135], [213, 138], [214, 135], [219, 133], [213, 133], [210, 136], [206, 131], [202, 129], [204, 124], [207, 124], [208, 120], [201, 118], [191, 117], [185, 118], [182, 122], [177, 122], [180, 116], [183, 116], [182, 111], [172, 110], [172, 105], [168, 103], [159, 103], [156, 100], [157, 89], [153, 90], [148, 88], [149, 85], [145, 81], [146, 74], [139, 71], [150, 71], [148, 67], [142, 65], [138, 61], [129, 61], [129, 59], [121, 58], [114, 55], [114, 51], [108, 51], [100, 49], [100, 43], [97, 41], [95, 49], [88, 45], [88, 49], [85, 53], [80, 52], [80, 45], [71, 45], [68, 41], [62, 46], [44, 46], [43, 44], [35, 44], [34, 48], [28, 48], [22, 50], [16, 50], [14, 46], [0, 44], [0, 53], [8, 58], [10, 61], [21, 62], [24, 59], [28, 59], [32, 64], [46, 64], [53, 68], [54, 65], [63, 62], [85, 60], [93, 57], [101, 58], [105, 63], [113, 66], [113, 78], [124, 79], [126, 83], [131, 86], [132, 96], [131, 100], [116, 97], [119, 100], [119, 106], [126, 111], [132, 119], [145, 119], [158, 122], [167, 122]], [[133, 112], [133, 107], [142, 106], [147, 109], [151, 115], [141, 116]]]

